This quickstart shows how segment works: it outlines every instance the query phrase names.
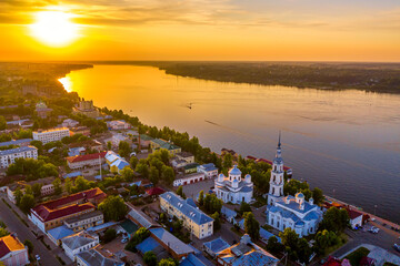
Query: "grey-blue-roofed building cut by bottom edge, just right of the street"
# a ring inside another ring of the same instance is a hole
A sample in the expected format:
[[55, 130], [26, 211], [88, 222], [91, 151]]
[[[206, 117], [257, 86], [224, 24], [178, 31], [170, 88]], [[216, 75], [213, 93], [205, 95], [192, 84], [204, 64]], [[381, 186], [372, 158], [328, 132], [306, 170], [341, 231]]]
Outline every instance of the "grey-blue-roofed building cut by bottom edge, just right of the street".
[[101, 245], [77, 255], [78, 266], [124, 266], [126, 264]]

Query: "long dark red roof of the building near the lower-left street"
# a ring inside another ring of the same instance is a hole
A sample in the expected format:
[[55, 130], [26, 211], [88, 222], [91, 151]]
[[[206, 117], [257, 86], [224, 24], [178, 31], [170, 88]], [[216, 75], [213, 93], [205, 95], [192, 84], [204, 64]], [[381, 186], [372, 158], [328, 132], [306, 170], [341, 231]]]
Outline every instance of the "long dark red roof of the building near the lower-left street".
[[83, 202], [84, 200], [103, 200], [106, 197], [106, 193], [103, 193], [99, 187], [96, 187], [39, 204], [32, 208], [31, 212], [36, 213], [43, 222], [47, 222], [69, 214], [96, 208], [91, 203], [77, 205], [78, 202]]

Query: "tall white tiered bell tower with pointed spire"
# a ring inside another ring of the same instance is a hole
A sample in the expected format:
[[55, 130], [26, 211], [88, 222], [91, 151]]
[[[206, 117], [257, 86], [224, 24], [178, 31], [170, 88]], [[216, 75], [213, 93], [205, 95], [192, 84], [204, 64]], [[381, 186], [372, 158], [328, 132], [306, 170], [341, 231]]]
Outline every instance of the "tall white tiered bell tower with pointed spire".
[[283, 196], [283, 160], [282, 160], [282, 149], [281, 149], [281, 133], [279, 131], [279, 141], [277, 146], [276, 157], [272, 162], [272, 171], [270, 178], [270, 190], [268, 193], [268, 204], [273, 205], [274, 202]]

